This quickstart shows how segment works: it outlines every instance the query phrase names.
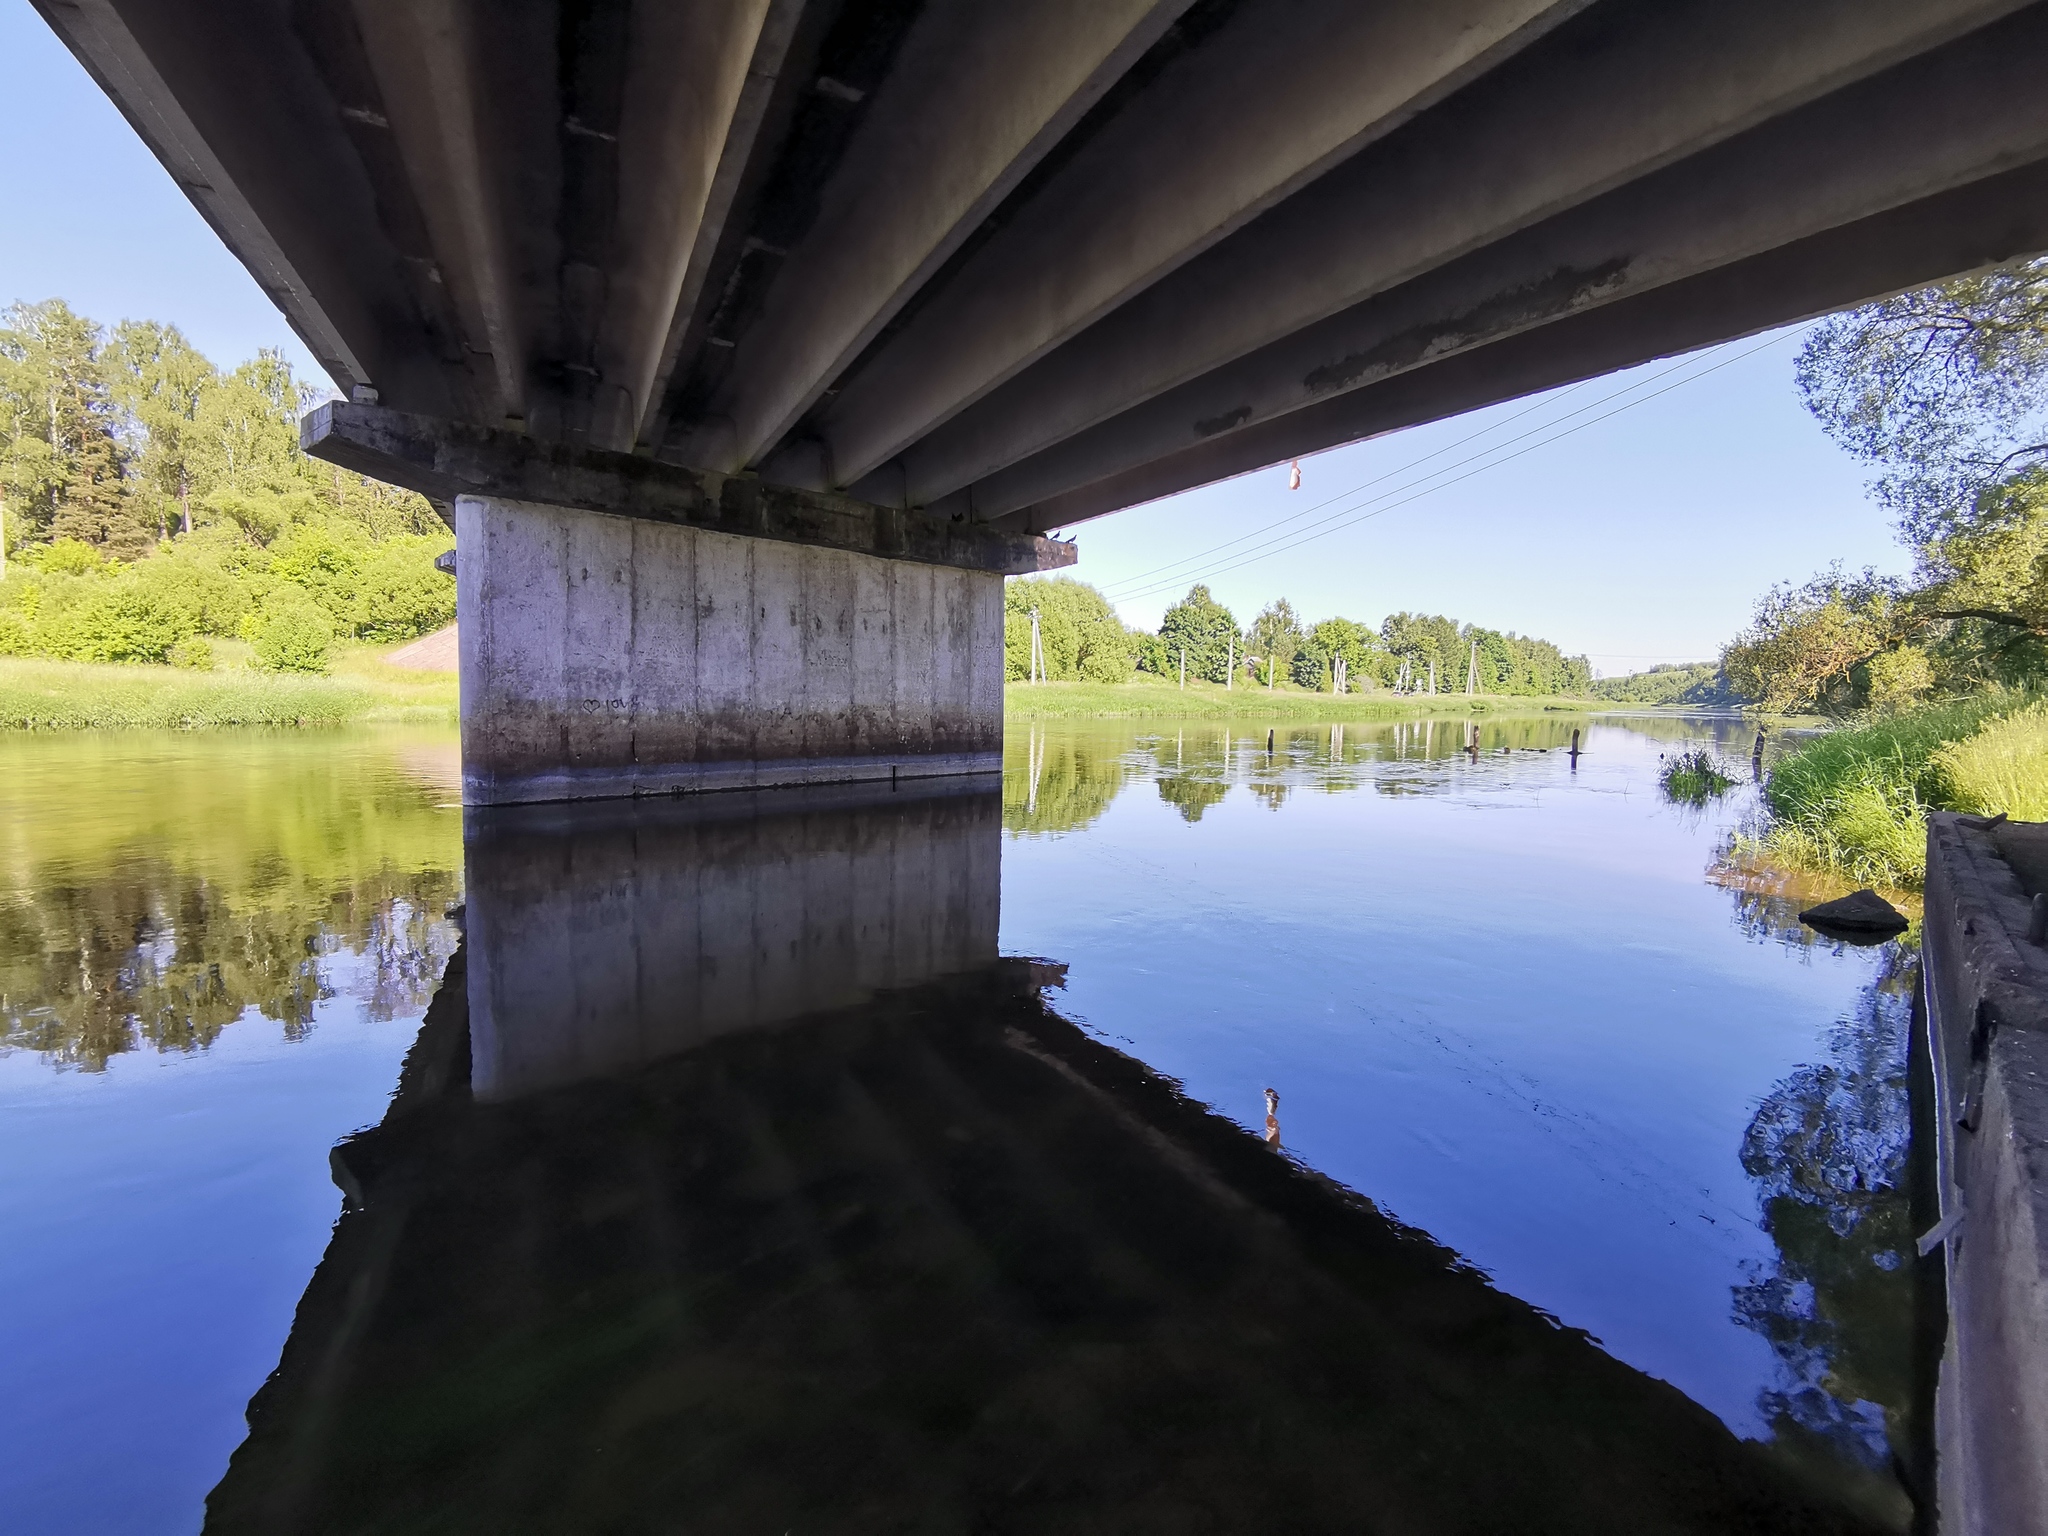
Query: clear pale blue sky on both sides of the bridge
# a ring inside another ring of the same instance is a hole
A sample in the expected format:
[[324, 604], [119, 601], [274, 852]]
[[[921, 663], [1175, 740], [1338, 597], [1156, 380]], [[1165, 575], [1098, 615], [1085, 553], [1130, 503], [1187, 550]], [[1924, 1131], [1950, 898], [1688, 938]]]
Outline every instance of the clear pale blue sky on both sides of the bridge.
[[[315, 375], [27, 0], [0, 0], [0, 303], [166, 319], [217, 362], [283, 346]], [[1145, 627], [1206, 580], [1245, 623], [1286, 596], [1309, 618], [1417, 608], [1542, 635], [1599, 672], [1710, 657], [1772, 582], [1907, 565], [1864, 467], [1800, 410], [1796, 350], [1796, 334], [1749, 338], [1319, 455], [1298, 492], [1280, 467], [1118, 512], [1077, 528], [1077, 573]], [[1296, 530], [1372, 516], [1249, 563], [1286, 528], [1190, 561], [1352, 487]]]

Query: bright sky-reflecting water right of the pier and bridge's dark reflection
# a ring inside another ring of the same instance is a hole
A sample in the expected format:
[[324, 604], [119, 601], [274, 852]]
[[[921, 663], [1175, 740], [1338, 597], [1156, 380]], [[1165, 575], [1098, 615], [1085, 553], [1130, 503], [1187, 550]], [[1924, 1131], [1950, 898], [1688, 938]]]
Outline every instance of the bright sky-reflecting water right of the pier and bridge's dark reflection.
[[[1008, 842], [1004, 948], [1069, 963], [1063, 1012], [1245, 1126], [1276, 1087], [1298, 1157], [1761, 1434], [1778, 1362], [1731, 1296], [1776, 1247], [1743, 1137], [1882, 952], [1741, 922], [1704, 874], [1747, 795], [1667, 805], [1675, 741], [1595, 725], [1573, 774], [1495, 750], [1569, 723], [1444, 758], [1462, 729], [1436, 723], [1425, 760], [1417, 727], [1352, 725], [1331, 762], [1329, 727], [1280, 727], [1272, 766], [1264, 727], [1231, 731], [1229, 766], [1221, 727], [1126, 731], [1137, 782], [1100, 819]], [[1718, 735], [1747, 758], [1747, 727]], [[1176, 756], [1229, 784], [1198, 821], [1145, 782]]]

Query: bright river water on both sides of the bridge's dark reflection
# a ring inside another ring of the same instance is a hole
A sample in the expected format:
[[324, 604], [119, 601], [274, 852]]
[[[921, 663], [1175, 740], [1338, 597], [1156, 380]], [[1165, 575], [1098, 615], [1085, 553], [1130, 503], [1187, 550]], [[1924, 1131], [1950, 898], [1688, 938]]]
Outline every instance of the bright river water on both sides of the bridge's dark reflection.
[[[1812, 1393], [1843, 1364], [1880, 1380], [1882, 1350], [1851, 1358], [1802, 1309], [1860, 1284], [1896, 1212], [1815, 1241], [1849, 1208], [1821, 1190], [1823, 1227], [1774, 1243], [1759, 1192], [1802, 1192], [1743, 1149], [1772, 1096], [1786, 1124], [1868, 1096], [1868, 1071], [1800, 1069], [1855, 1065], [1841, 1022], [1888, 952], [1808, 944], [1796, 901], [1706, 879], [1749, 791], [1671, 807], [1659, 752], [1714, 733], [1747, 766], [1749, 727], [1595, 725], [1577, 774], [1569, 733], [1491, 723], [1473, 760], [1458, 721], [1280, 727], [1272, 756], [1264, 727], [1225, 750], [1219, 725], [1018, 723], [1001, 944], [1067, 963], [1057, 1010], [1249, 1130], [1276, 1090], [1292, 1155], [1737, 1430], [1868, 1430]], [[383, 1114], [455, 944], [449, 745], [0, 743], [25, 811], [0, 834], [12, 1530], [197, 1526], [326, 1247], [328, 1149]], [[219, 948], [180, 952], [193, 934]], [[86, 1030], [223, 956], [207, 1030]]]

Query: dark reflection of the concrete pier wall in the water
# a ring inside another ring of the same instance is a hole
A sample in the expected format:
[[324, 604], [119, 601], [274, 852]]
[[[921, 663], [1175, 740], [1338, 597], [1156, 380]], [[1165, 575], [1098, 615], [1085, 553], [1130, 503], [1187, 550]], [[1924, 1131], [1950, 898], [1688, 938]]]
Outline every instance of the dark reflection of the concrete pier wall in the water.
[[473, 809], [463, 854], [479, 1100], [995, 961], [987, 780]]

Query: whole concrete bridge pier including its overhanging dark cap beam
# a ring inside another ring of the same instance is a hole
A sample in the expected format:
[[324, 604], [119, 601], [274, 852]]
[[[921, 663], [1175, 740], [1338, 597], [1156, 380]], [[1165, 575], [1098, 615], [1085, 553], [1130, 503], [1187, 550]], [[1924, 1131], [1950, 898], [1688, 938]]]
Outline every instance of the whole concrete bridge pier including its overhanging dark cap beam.
[[1004, 575], [1073, 561], [375, 406], [303, 436], [453, 504], [469, 805], [999, 772]]

